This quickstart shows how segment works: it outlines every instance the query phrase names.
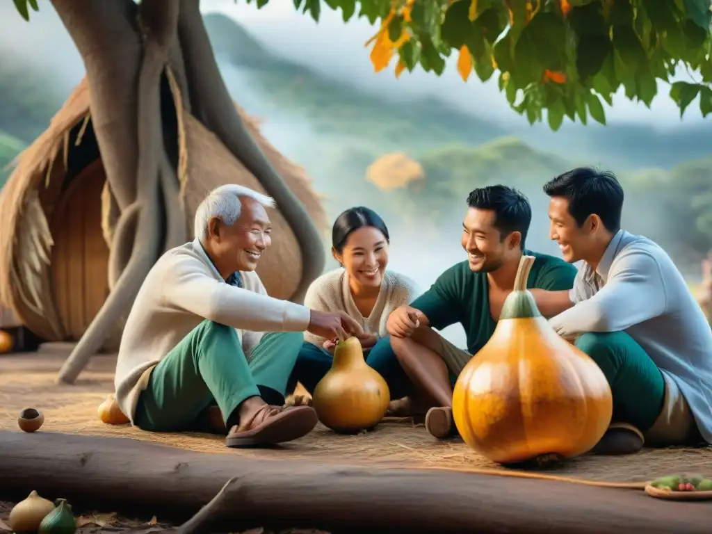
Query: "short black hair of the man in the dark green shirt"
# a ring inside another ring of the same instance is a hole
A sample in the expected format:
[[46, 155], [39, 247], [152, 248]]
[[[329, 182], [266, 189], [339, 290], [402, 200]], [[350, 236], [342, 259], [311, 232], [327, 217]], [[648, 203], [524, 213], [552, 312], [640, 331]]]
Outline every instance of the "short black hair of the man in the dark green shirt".
[[494, 211], [494, 226], [500, 231], [501, 239], [518, 231], [522, 234], [520, 248], [524, 250], [532, 221], [532, 206], [522, 192], [506, 185], [478, 187], [470, 192], [467, 205], [474, 209]]

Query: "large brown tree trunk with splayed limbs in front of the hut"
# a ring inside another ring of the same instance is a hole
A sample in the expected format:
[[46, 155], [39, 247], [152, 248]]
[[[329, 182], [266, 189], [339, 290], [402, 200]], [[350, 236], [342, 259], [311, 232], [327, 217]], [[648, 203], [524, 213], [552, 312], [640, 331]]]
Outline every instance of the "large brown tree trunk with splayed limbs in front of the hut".
[[59, 381], [75, 382], [110, 326], [127, 315], [162, 251], [187, 241], [180, 162], [170, 157], [179, 151], [167, 146], [174, 140], [164, 136], [162, 80], [168, 80], [176, 108], [194, 113], [276, 200], [302, 251], [302, 278], [292, 299], [303, 300], [323, 270], [320, 235], [236, 112], [199, 0], [52, 3], [85, 64], [108, 193], [120, 210], [110, 246], [111, 293], [63, 365]]

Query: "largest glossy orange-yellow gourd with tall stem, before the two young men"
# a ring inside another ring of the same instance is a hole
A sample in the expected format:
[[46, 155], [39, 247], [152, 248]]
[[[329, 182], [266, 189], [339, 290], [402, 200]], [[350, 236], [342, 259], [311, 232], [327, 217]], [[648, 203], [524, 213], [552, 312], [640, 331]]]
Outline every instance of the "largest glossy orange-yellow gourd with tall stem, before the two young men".
[[460, 435], [500, 464], [583, 454], [601, 439], [612, 416], [603, 372], [557, 335], [526, 290], [534, 259], [523, 256], [497, 328], [453, 392]]

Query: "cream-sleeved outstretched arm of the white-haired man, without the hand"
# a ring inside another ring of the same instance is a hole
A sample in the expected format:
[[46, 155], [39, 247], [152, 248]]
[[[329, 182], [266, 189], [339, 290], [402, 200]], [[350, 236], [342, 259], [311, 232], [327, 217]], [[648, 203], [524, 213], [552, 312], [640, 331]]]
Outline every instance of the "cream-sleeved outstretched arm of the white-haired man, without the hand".
[[303, 305], [217, 281], [190, 256], [180, 256], [170, 264], [161, 295], [165, 306], [243, 330], [300, 332], [308, 328], [311, 317]]

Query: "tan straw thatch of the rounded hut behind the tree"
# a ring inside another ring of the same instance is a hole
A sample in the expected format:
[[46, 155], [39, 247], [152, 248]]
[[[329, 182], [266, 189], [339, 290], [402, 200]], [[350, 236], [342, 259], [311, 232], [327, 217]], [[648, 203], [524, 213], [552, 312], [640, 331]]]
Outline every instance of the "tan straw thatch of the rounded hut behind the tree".
[[[51, 248], [48, 221], [61, 196], [64, 169], [70, 151], [70, 130], [90, 120], [90, 88], [83, 79], [43, 132], [16, 159], [16, 166], [0, 190], [0, 303], [12, 308], [39, 335], [61, 339], [65, 335], [52, 301]], [[302, 167], [290, 162], [261, 135], [258, 121], [236, 105], [244, 124], [289, 189], [305, 206], [320, 231], [327, 222], [322, 197]], [[201, 123], [179, 110], [182, 199], [187, 234], [192, 236], [192, 218], [197, 205], [212, 187], [239, 183], [261, 192], [264, 188]], [[106, 197], [106, 195], [105, 195]], [[106, 237], [115, 224], [115, 210], [103, 202]], [[271, 214], [274, 245], [261, 261], [258, 273], [268, 292], [289, 298], [301, 276], [300, 249], [283, 216]]]

